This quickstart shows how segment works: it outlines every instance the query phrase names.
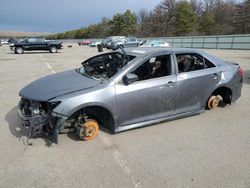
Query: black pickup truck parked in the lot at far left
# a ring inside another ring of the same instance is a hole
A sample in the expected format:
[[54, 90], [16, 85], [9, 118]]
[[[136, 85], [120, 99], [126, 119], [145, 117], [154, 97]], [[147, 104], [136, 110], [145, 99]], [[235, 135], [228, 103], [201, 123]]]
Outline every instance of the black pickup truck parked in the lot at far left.
[[39, 37], [29, 37], [20, 42], [10, 44], [10, 49], [16, 54], [22, 54], [26, 50], [48, 50], [51, 53], [56, 53], [57, 50], [62, 47], [62, 42], [47, 41], [44, 38]]

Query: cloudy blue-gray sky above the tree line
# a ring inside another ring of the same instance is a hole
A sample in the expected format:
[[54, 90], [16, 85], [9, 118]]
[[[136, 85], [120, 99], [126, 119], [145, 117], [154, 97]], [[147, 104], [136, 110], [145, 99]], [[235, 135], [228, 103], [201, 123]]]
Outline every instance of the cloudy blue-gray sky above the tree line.
[[98, 23], [102, 17], [162, 0], [0, 0], [0, 31], [62, 32]]

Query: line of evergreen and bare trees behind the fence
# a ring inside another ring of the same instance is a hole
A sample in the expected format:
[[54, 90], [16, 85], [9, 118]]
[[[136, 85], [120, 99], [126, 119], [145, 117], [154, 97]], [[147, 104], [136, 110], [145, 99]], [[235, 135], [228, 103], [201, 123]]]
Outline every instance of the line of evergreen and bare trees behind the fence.
[[48, 39], [104, 38], [111, 35], [171, 37], [250, 33], [250, 0], [163, 0], [153, 10], [127, 10]]

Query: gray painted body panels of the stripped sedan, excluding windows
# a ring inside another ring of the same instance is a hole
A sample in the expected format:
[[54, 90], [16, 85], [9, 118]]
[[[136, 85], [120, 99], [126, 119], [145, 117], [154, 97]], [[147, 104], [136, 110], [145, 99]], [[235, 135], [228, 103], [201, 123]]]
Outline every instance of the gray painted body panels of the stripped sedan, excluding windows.
[[[20, 92], [20, 95], [34, 100], [54, 97], [49, 102], [61, 101], [53, 110], [58, 116], [69, 117], [79, 109], [88, 106], [104, 107], [113, 115], [115, 127], [112, 130], [115, 132], [203, 112], [209, 96], [221, 86], [232, 90], [232, 102], [241, 95], [242, 78], [238, 74], [238, 65], [227, 64], [202, 51], [131, 48], [126, 49], [126, 52], [137, 57], [107, 82], [98, 84], [94, 80], [79, 77], [74, 71], [67, 71], [31, 83]], [[214, 60], [216, 67], [179, 74], [175, 53], [197, 53]], [[170, 76], [137, 81], [130, 85], [122, 82], [123, 76], [145, 60], [163, 54], [171, 55], [172, 74]], [[213, 77], [215, 73], [218, 74], [216, 78]], [[57, 81], [53, 81], [55, 78]], [[79, 81], [81, 84], [70, 85]], [[60, 87], [57, 86], [58, 83]], [[48, 84], [49, 88], [59, 89], [45, 91], [44, 96], [42, 94], [36, 98], [33, 92], [46, 90]], [[80, 91], [76, 91], [77, 89]]]

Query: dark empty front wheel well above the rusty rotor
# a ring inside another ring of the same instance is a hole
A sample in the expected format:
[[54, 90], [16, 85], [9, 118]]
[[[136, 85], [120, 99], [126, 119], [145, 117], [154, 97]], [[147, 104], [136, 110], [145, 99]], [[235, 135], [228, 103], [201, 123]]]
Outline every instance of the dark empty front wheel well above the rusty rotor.
[[84, 113], [89, 118], [94, 118], [101, 126], [107, 128], [111, 133], [114, 132], [114, 118], [112, 113], [101, 106], [88, 106], [75, 112], [72, 116], [76, 117], [79, 113]]

